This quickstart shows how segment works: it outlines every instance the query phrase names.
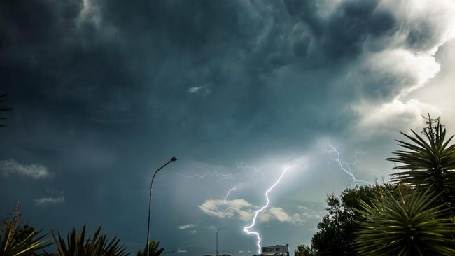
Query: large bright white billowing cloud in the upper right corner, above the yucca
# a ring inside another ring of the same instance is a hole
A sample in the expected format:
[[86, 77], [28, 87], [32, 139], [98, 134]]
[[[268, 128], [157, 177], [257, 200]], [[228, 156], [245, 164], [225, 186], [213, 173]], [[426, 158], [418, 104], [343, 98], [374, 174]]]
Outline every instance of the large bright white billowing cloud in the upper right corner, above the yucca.
[[[349, 74], [351, 82], [366, 86], [360, 92], [375, 96], [373, 101], [352, 104], [360, 116], [356, 131], [362, 131], [356, 134], [366, 137], [389, 129], [421, 127], [421, 115], [441, 113], [434, 103], [408, 96], [427, 87], [440, 72], [435, 54], [455, 37], [454, 1], [383, 0], [379, 8], [394, 15], [400, 30], [381, 41], [382, 50], [377, 50], [376, 41], [367, 41], [359, 65]], [[383, 98], [377, 101], [378, 96]]]

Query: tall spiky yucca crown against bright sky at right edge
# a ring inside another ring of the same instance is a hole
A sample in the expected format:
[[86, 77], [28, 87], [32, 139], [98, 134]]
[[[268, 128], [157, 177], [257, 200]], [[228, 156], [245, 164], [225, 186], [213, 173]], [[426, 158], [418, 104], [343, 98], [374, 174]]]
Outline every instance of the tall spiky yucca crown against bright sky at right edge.
[[410, 142], [398, 142], [407, 150], [393, 152], [395, 157], [388, 160], [402, 164], [393, 169], [405, 171], [393, 173], [393, 180], [420, 187], [423, 190], [433, 187], [437, 193], [441, 193], [440, 201], [448, 202], [453, 206], [455, 203], [455, 145], [449, 145], [449, 143], [454, 136], [445, 140], [446, 130], [442, 129], [439, 120], [433, 127], [432, 119], [429, 118], [429, 124], [429, 127], [423, 130], [426, 139], [412, 130], [414, 136], [402, 133]]

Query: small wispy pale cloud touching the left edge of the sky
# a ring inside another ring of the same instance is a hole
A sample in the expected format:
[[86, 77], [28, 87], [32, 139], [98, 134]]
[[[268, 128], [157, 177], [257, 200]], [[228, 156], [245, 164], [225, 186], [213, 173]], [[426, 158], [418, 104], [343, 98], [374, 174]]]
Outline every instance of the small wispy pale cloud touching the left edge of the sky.
[[41, 164], [25, 165], [16, 162], [14, 159], [0, 161], [0, 173], [3, 173], [3, 176], [18, 174], [36, 179], [51, 176], [48, 169]]

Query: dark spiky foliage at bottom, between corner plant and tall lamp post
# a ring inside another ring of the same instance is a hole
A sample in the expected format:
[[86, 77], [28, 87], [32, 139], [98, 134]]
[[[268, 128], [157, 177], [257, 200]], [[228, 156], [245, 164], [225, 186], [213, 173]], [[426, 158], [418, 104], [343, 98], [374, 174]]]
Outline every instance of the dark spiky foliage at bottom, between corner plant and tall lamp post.
[[100, 235], [101, 227], [94, 232], [93, 236], [85, 238], [85, 225], [82, 232], [76, 233], [73, 228], [72, 232], [66, 236], [66, 241], [58, 233], [58, 240], [55, 238], [58, 256], [126, 256], [125, 246], [119, 246], [120, 239], [114, 237], [109, 243], [106, 234]]

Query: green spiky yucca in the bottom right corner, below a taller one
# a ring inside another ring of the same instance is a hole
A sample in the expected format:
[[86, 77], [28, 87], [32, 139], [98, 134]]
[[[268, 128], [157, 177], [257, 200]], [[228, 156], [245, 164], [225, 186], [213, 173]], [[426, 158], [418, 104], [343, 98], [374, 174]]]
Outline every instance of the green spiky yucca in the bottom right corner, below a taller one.
[[433, 206], [438, 194], [431, 188], [409, 197], [360, 201], [360, 230], [354, 242], [358, 255], [455, 255], [455, 225], [443, 204]]

